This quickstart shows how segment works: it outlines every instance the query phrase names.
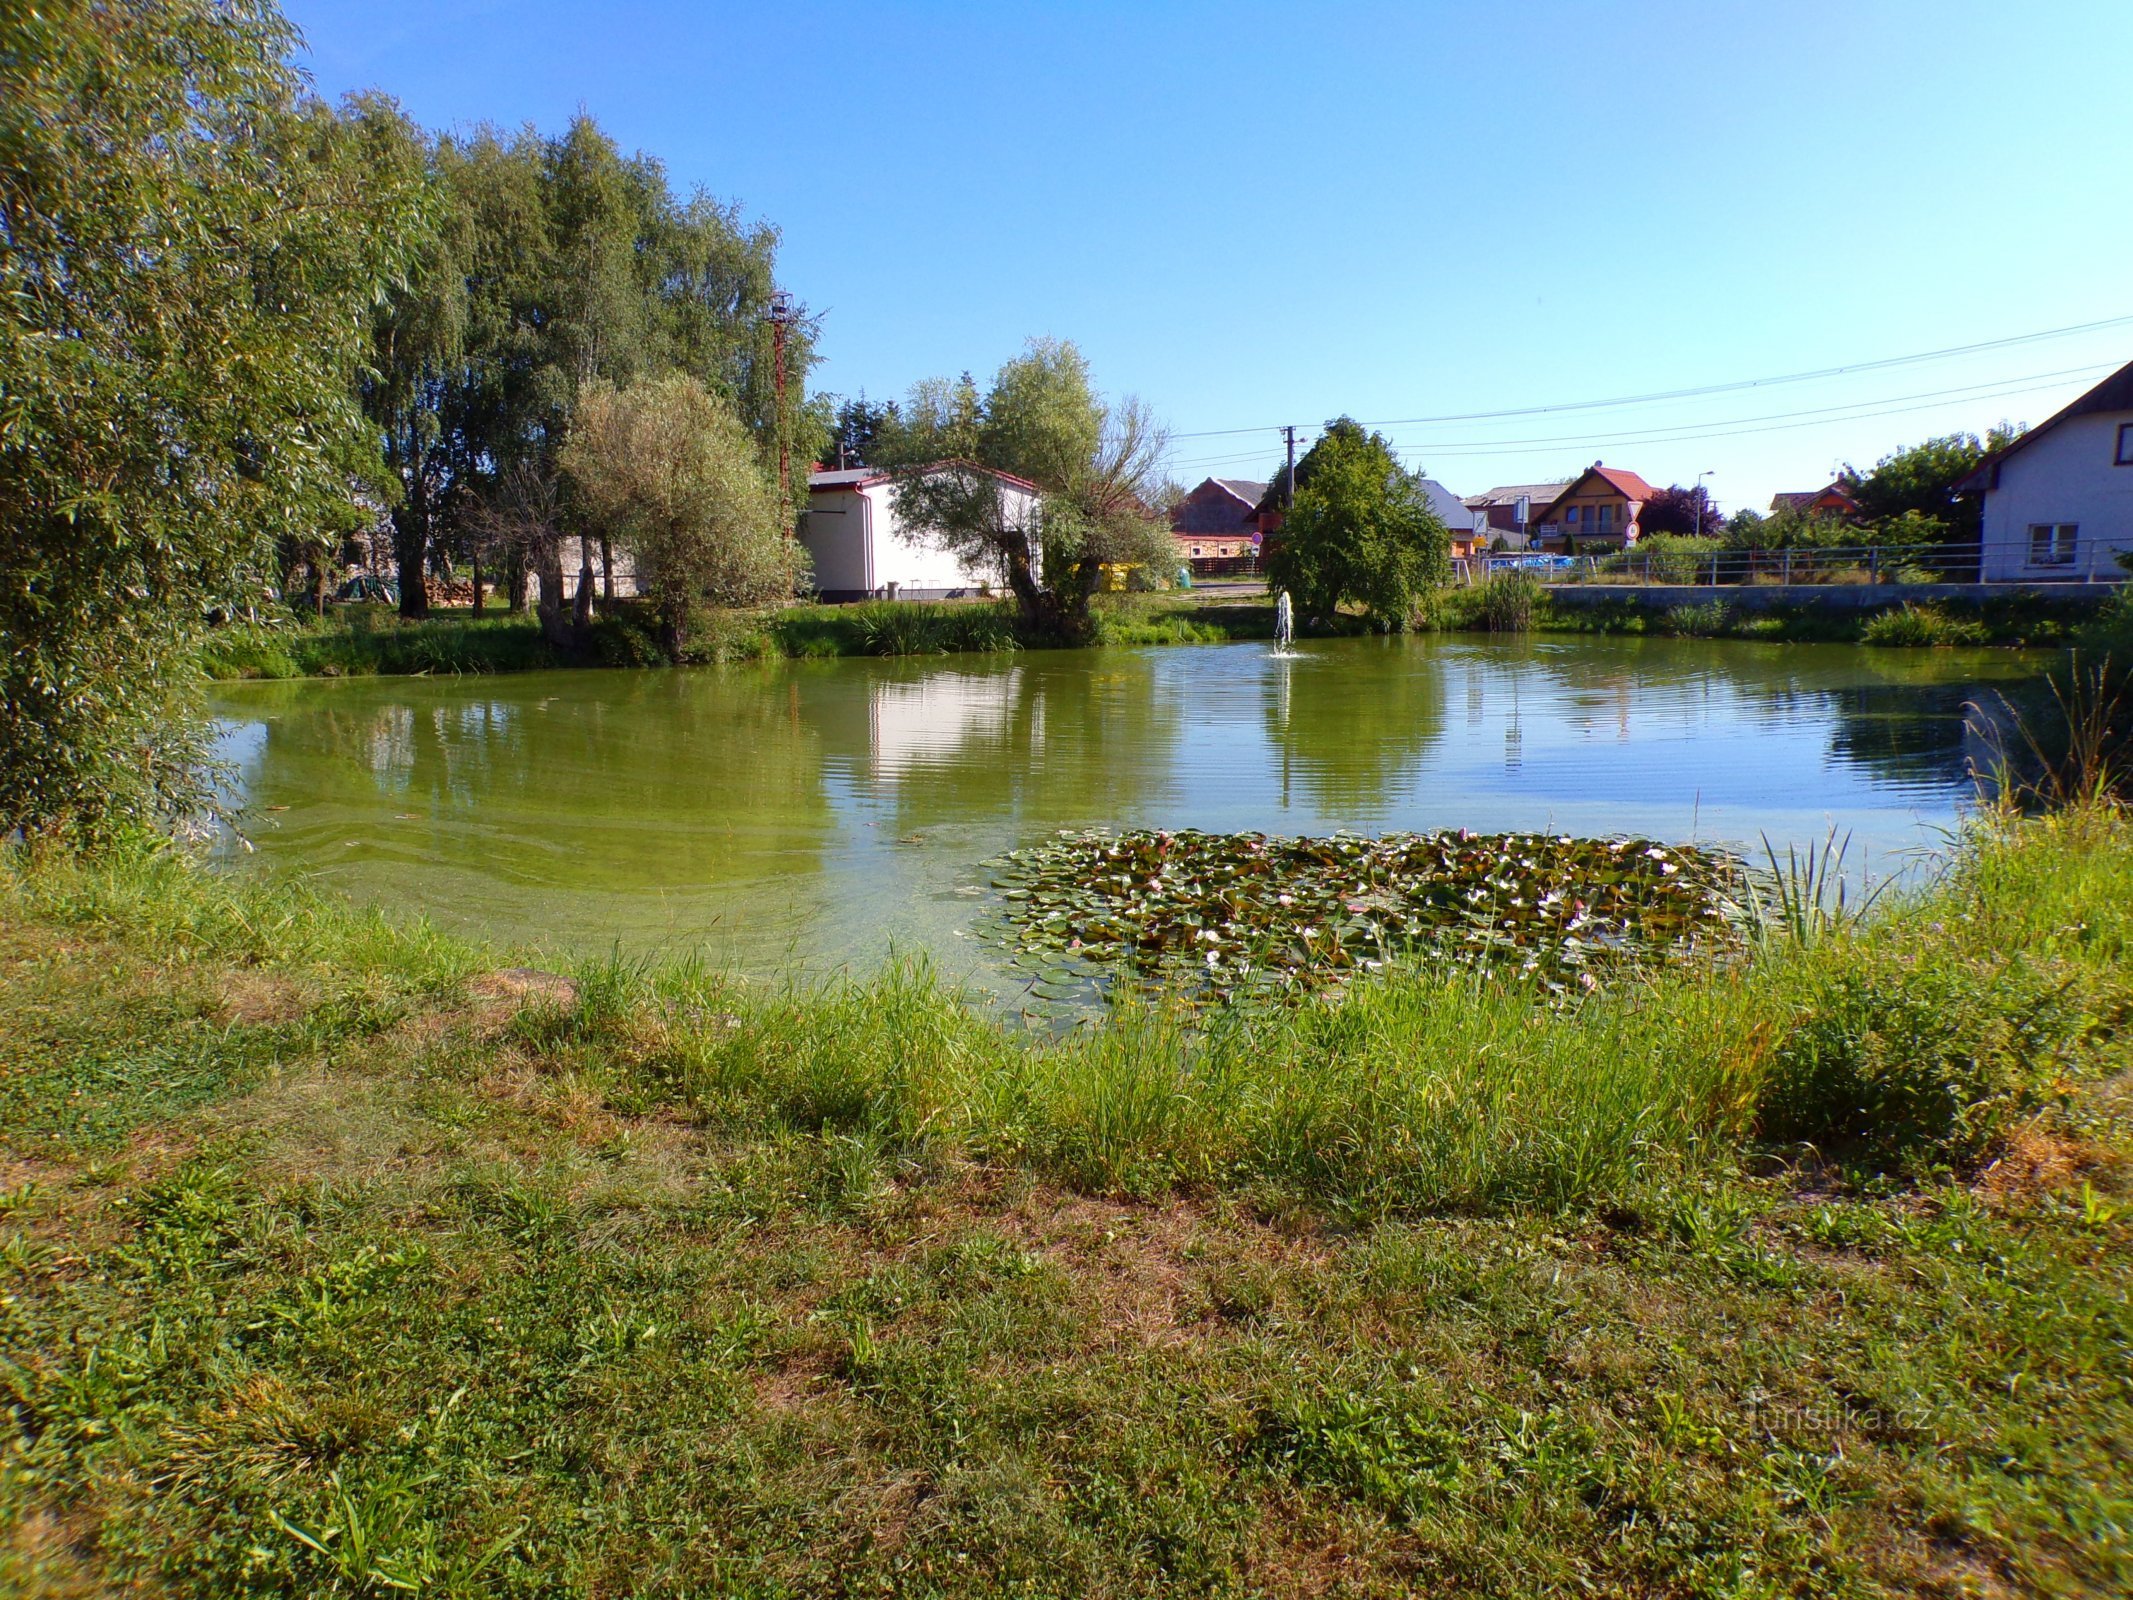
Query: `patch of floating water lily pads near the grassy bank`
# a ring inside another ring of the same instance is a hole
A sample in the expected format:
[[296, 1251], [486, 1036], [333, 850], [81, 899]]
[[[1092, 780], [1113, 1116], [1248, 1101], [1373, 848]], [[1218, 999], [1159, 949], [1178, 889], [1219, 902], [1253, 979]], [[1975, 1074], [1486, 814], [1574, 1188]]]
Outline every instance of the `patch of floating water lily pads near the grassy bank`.
[[1563, 994], [1741, 943], [1736, 862], [1647, 838], [1062, 832], [992, 866], [988, 930], [1043, 1001], [1111, 990], [1107, 973], [1194, 998], [1280, 994], [1395, 958]]

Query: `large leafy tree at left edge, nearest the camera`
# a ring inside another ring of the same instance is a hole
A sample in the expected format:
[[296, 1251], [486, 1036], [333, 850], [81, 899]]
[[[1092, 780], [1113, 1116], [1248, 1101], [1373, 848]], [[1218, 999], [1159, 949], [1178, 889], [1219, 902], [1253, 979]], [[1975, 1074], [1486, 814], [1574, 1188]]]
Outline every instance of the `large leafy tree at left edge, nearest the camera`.
[[369, 307], [420, 196], [269, 0], [0, 9], [0, 832], [186, 813], [207, 614], [375, 471]]

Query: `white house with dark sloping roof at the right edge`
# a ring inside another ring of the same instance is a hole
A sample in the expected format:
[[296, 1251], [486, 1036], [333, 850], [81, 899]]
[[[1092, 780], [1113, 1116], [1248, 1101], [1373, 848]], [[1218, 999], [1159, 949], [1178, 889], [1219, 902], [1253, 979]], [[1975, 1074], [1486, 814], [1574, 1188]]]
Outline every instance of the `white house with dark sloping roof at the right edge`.
[[2133, 365], [1986, 457], [1986, 582], [2116, 582], [2133, 550]]

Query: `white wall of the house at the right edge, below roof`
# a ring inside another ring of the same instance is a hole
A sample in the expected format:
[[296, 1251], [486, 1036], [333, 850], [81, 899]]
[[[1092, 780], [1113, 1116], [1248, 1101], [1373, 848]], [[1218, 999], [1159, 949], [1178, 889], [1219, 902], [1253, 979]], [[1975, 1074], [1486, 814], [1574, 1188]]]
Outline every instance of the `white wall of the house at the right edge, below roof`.
[[[2116, 580], [2112, 561], [2133, 550], [2133, 467], [2114, 465], [2118, 429], [2133, 412], [2071, 416], [2001, 463], [1999, 489], [1986, 493], [1986, 580]], [[2033, 523], [2073, 523], [2073, 565], [2031, 565]]]

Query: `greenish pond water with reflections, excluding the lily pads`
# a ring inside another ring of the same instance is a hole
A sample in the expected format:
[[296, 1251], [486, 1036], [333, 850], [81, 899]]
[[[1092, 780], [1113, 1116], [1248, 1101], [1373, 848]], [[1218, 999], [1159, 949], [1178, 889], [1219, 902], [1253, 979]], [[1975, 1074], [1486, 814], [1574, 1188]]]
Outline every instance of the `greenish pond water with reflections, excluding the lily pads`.
[[241, 870], [559, 954], [772, 977], [892, 947], [1011, 992], [985, 862], [1060, 828], [1472, 828], [1903, 870], [1994, 651], [1391, 638], [226, 685]]

